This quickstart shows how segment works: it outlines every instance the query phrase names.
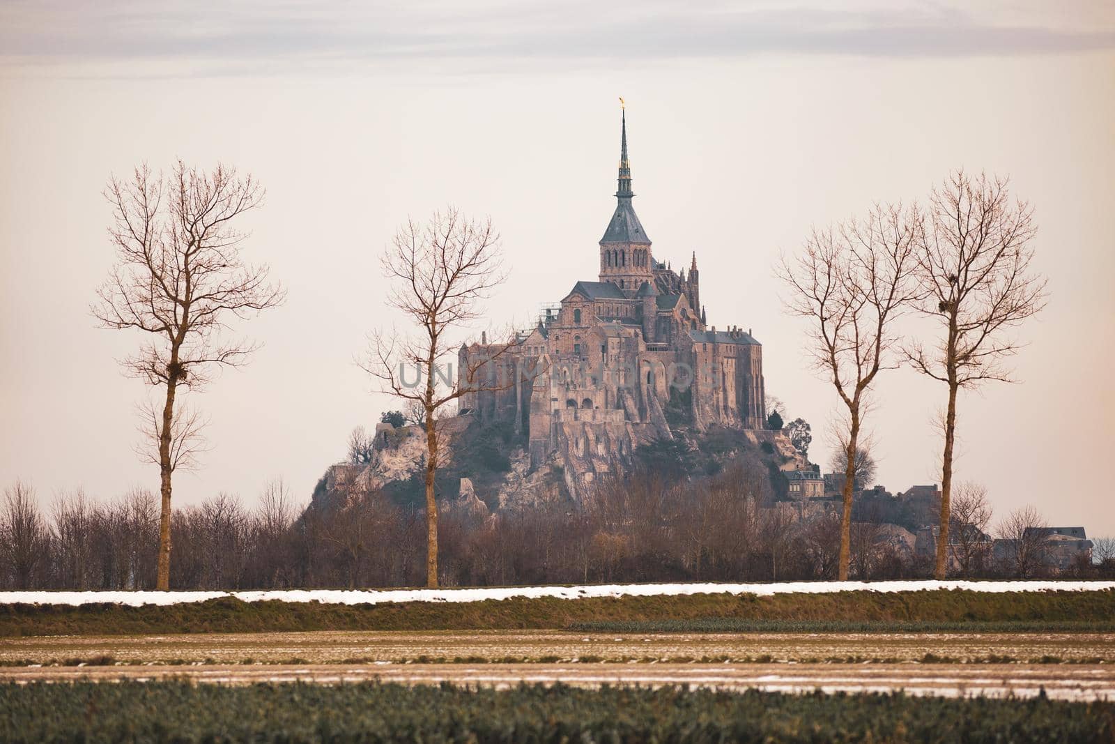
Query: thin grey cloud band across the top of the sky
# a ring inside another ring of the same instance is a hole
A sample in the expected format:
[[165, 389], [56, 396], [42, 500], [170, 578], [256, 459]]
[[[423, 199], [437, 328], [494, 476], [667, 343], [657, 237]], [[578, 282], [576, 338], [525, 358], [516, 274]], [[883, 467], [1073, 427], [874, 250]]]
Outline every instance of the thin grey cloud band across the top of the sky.
[[886, 58], [1017, 56], [1115, 48], [1107, 4], [1058, 16], [1005, 4], [981, 13], [941, 3], [882, 8], [768, 8], [749, 3], [399, 3], [368, 8], [309, 2], [9, 2], [0, 10], [0, 60], [36, 67], [187, 62], [248, 70], [306, 65], [420, 67], [463, 60], [640, 64], [763, 54]]

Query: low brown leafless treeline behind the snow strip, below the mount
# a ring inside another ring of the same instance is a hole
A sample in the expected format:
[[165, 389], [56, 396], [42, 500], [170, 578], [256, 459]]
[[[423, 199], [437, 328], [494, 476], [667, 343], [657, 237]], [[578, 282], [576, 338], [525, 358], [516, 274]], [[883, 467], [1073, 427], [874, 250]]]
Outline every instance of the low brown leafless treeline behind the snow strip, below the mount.
[[[767, 473], [729, 464], [699, 482], [661, 475], [603, 483], [585, 503], [489, 513], [449, 500], [440, 518], [444, 586], [646, 581], [830, 580], [836, 577], [836, 512], [801, 520], [776, 508]], [[425, 519], [380, 491], [338, 487], [302, 508], [281, 481], [254, 508], [229, 494], [177, 509], [171, 524], [173, 589], [418, 586]], [[77, 491], [41, 508], [17, 483], [0, 509], [0, 588], [127, 590], [155, 587], [158, 504], [148, 491], [95, 501]], [[1106, 550], [1106, 542], [1103, 543]], [[1097, 545], [1098, 547], [1098, 545]], [[924, 578], [919, 558], [888, 525], [852, 529], [855, 579]], [[1115, 576], [1115, 557], [1072, 569]], [[960, 574], [1032, 578], [1015, 561], [979, 561]]]

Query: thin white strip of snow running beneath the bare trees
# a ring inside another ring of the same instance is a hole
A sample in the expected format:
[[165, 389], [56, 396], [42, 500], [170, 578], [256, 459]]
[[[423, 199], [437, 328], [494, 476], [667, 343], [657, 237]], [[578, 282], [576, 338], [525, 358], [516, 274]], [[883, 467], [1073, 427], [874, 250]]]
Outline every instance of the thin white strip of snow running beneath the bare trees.
[[245, 602], [280, 600], [336, 605], [382, 602], [477, 602], [512, 597], [581, 599], [586, 597], [653, 597], [683, 595], [783, 595], [831, 593], [838, 591], [1098, 591], [1115, 589], [1115, 581], [797, 581], [784, 583], [629, 583], [580, 587], [497, 587], [484, 589], [289, 589], [272, 591], [0, 591], [0, 603], [87, 605], [114, 602], [177, 605], [202, 602], [219, 597], [236, 597]]

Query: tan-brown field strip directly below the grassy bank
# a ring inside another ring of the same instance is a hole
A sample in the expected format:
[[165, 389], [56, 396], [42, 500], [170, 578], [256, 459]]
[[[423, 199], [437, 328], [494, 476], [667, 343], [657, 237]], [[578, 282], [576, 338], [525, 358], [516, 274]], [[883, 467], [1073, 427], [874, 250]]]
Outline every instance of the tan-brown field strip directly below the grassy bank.
[[[927, 656], [931, 655], [931, 656]], [[105, 657], [110, 657], [106, 659]], [[1115, 634], [314, 631], [0, 638], [0, 665], [341, 663], [1112, 664]], [[1067, 665], [1066, 665], [1067, 666]]]

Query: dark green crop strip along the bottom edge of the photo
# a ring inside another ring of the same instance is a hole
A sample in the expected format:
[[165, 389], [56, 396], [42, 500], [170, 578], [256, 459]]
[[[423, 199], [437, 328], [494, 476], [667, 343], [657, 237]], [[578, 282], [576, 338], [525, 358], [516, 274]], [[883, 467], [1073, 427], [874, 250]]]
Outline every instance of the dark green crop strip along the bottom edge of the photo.
[[0, 740], [1111, 742], [1115, 704], [704, 689], [184, 682], [0, 686]]

